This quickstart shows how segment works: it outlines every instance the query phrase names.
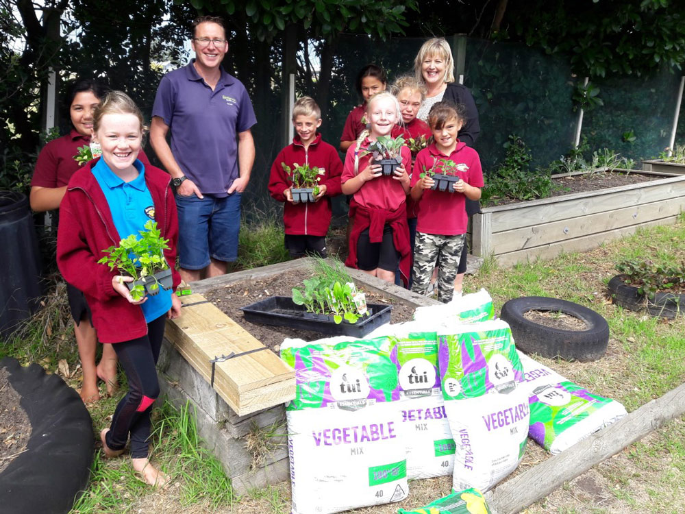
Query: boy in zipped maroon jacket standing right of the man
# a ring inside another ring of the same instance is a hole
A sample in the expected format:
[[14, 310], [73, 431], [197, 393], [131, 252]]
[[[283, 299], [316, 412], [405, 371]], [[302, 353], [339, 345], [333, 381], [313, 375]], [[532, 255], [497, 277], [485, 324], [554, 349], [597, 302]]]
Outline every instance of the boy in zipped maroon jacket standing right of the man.
[[[343, 164], [338, 151], [321, 140], [316, 129], [321, 127], [321, 110], [314, 99], [301, 97], [292, 108], [292, 125], [297, 135], [292, 144], [282, 149], [271, 166], [269, 194], [284, 202], [283, 223], [286, 248], [293, 258], [306, 254], [326, 257], [326, 234], [331, 223], [331, 197], [340, 195]], [[314, 201], [294, 201], [292, 178], [286, 167], [308, 165], [319, 170], [319, 193]]]

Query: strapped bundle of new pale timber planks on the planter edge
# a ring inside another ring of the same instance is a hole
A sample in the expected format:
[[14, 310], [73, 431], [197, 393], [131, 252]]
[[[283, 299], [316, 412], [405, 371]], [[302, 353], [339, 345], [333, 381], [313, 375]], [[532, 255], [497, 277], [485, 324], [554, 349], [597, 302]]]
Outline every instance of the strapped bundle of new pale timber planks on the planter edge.
[[[216, 356], [264, 348], [249, 332], [197, 293], [182, 297], [182, 316], [167, 323], [166, 338], [210, 382]], [[295, 371], [264, 349], [216, 363], [214, 389], [245, 415], [295, 397]]]

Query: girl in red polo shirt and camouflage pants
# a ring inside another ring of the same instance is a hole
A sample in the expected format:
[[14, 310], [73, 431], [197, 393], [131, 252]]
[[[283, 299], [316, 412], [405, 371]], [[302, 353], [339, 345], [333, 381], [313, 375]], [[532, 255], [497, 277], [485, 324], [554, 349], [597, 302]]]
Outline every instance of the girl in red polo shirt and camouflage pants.
[[[465, 198], [480, 198], [483, 171], [477, 152], [460, 142], [464, 108], [451, 102], [436, 103], [428, 114], [434, 143], [419, 151], [412, 173], [412, 199], [421, 201], [416, 222], [414, 284], [412, 291], [425, 294], [438, 258], [438, 300], [451, 301], [454, 278], [464, 247], [468, 217]], [[456, 175], [453, 191], [434, 190], [433, 173]]]

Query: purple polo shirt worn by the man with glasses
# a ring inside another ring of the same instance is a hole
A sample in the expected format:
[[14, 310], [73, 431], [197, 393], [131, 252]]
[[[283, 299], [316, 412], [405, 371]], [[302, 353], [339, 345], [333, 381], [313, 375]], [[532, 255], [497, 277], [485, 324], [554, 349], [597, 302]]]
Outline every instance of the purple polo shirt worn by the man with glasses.
[[227, 196], [238, 178], [236, 134], [257, 123], [245, 86], [221, 69], [212, 88], [190, 64], [162, 77], [152, 115], [171, 130], [176, 162], [203, 194]]

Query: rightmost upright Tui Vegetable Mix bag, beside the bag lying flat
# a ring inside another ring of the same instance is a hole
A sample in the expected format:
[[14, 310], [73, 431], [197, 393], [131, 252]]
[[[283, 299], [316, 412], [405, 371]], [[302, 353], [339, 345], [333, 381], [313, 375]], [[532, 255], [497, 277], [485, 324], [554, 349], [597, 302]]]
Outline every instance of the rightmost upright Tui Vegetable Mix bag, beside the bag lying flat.
[[438, 329], [445, 411], [456, 442], [455, 491], [487, 491], [519, 465], [530, 411], [523, 367], [505, 321]]

